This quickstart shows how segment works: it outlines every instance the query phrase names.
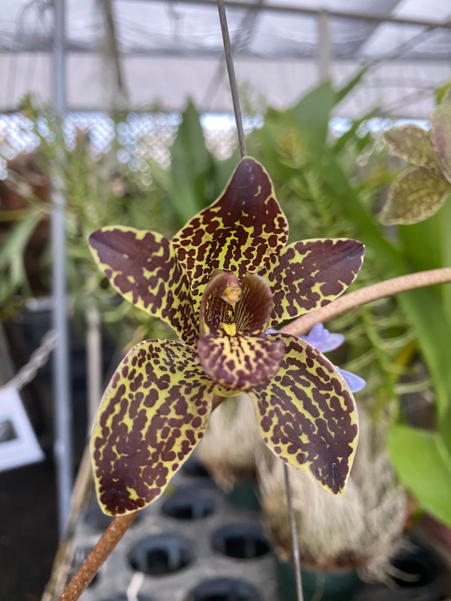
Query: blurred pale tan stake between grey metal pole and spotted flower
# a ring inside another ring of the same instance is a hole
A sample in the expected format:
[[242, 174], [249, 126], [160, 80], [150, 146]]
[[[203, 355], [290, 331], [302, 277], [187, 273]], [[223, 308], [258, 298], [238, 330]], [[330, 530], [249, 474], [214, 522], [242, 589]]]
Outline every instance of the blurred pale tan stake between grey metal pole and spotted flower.
[[88, 307], [86, 314], [86, 373], [88, 389], [88, 432], [91, 435], [94, 418], [102, 398], [102, 332], [100, 314], [94, 305]]

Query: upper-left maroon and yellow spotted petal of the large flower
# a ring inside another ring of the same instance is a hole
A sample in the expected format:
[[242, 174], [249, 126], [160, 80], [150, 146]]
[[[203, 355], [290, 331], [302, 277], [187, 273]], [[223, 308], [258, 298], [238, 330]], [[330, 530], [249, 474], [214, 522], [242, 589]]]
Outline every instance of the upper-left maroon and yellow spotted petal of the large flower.
[[198, 337], [188, 276], [169, 240], [121, 225], [94, 231], [91, 252], [124, 299], [159, 317], [187, 344]]

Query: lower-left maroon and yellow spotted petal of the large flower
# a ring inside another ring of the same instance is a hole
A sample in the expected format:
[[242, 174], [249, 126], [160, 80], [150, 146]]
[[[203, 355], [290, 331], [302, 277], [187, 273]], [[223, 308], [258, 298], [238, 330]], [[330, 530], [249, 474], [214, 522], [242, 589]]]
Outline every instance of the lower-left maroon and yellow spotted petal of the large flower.
[[145, 340], [130, 350], [103, 395], [91, 437], [105, 513], [130, 513], [161, 495], [203, 436], [212, 389], [183, 344]]

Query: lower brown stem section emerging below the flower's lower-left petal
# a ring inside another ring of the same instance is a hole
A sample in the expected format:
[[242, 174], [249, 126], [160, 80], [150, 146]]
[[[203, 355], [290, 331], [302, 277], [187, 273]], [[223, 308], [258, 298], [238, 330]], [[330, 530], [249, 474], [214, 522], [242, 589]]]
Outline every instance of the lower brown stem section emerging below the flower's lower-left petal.
[[111, 554], [111, 551], [129, 529], [137, 514], [138, 511], [135, 511], [135, 513], [129, 513], [126, 516], [117, 516], [112, 520], [97, 545], [79, 567], [61, 596], [58, 597], [58, 601], [77, 601], [79, 599], [100, 567], [105, 563], [108, 555]]

